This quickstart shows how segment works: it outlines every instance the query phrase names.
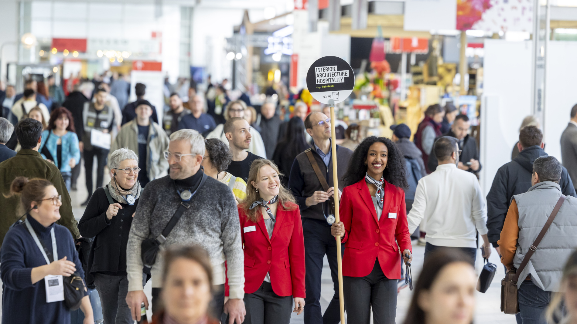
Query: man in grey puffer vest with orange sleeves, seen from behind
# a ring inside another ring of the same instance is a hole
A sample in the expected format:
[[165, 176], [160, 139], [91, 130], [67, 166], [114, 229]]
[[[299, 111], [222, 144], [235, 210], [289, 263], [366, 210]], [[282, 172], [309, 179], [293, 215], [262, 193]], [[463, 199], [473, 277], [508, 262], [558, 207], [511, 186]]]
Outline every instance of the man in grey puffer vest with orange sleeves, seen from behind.
[[[533, 163], [531, 187], [511, 197], [501, 238], [497, 242], [501, 263], [519, 269], [525, 254], [547, 222], [561, 197], [561, 163], [554, 156], [540, 156]], [[544, 311], [551, 292], [559, 291], [561, 263], [577, 248], [577, 198], [567, 197], [529, 263], [519, 275], [517, 323], [546, 324]]]

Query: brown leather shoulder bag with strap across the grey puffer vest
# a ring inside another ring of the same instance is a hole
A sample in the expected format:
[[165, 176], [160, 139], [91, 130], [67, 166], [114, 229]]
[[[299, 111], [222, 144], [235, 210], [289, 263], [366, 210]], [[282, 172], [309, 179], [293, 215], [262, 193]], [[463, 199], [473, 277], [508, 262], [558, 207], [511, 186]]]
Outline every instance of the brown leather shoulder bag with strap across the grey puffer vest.
[[507, 274], [505, 274], [505, 278], [501, 280], [501, 311], [505, 314], [515, 315], [519, 313], [519, 301], [517, 299], [517, 282], [519, 281], [519, 276], [521, 275], [521, 272], [523, 272], [523, 269], [525, 269], [525, 266], [527, 266], [527, 263], [529, 263], [529, 259], [533, 253], [537, 251], [537, 246], [541, 243], [541, 240], [551, 226], [551, 223], [553, 223], [553, 220], [555, 219], [555, 216], [557, 216], [557, 212], [559, 212], [565, 198], [567, 197], [561, 194], [561, 197], [559, 197], [559, 200], [557, 201], [555, 208], [553, 208], [553, 212], [551, 212], [547, 219], [545, 226], [541, 229], [541, 232], [539, 232], [537, 239], [535, 239], [531, 247], [529, 247], [529, 251], [527, 251], [527, 254], [523, 258], [519, 269], [515, 270], [514, 268], [509, 270]]

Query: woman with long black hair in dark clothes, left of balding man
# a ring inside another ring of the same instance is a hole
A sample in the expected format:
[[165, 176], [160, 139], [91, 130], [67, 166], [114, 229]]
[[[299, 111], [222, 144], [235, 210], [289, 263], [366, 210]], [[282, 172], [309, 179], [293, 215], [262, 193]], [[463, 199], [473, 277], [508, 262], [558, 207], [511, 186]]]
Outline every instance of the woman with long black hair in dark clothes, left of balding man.
[[280, 180], [286, 188], [288, 188], [288, 177], [294, 159], [310, 147], [306, 142], [305, 123], [302, 119], [299, 116], [294, 116], [288, 120], [287, 124], [284, 137], [276, 144], [275, 154], [272, 156], [272, 160], [278, 165]]

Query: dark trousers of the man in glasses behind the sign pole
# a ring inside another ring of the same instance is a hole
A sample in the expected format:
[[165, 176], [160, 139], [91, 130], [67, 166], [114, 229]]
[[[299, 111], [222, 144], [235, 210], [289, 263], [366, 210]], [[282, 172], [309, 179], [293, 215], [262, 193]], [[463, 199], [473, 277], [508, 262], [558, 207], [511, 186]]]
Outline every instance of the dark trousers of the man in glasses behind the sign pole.
[[[340, 322], [339, 278], [336, 265], [336, 240], [331, 235], [331, 225], [324, 220], [302, 218], [302, 230], [305, 238], [305, 324], [337, 324]], [[341, 244], [344, 253], [344, 244]], [[321, 311], [321, 274], [323, 258], [327, 255], [331, 268], [334, 296], [324, 315]]]

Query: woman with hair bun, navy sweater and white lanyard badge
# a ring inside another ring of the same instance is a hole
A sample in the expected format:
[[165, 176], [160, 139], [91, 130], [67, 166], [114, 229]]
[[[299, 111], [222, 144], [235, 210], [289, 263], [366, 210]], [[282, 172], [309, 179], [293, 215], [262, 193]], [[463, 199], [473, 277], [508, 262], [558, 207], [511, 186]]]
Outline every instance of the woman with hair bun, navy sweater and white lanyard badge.
[[[46, 282], [63, 284], [73, 275], [84, 278], [70, 231], [56, 224], [62, 196], [48, 180], [23, 176], [10, 186], [9, 195], [15, 194], [20, 195], [26, 218], [8, 230], [0, 248], [2, 323], [69, 324], [70, 309], [63, 295], [47, 300], [46, 292]], [[84, 324], [94, 323], [87, 291], [80, 308]]]

